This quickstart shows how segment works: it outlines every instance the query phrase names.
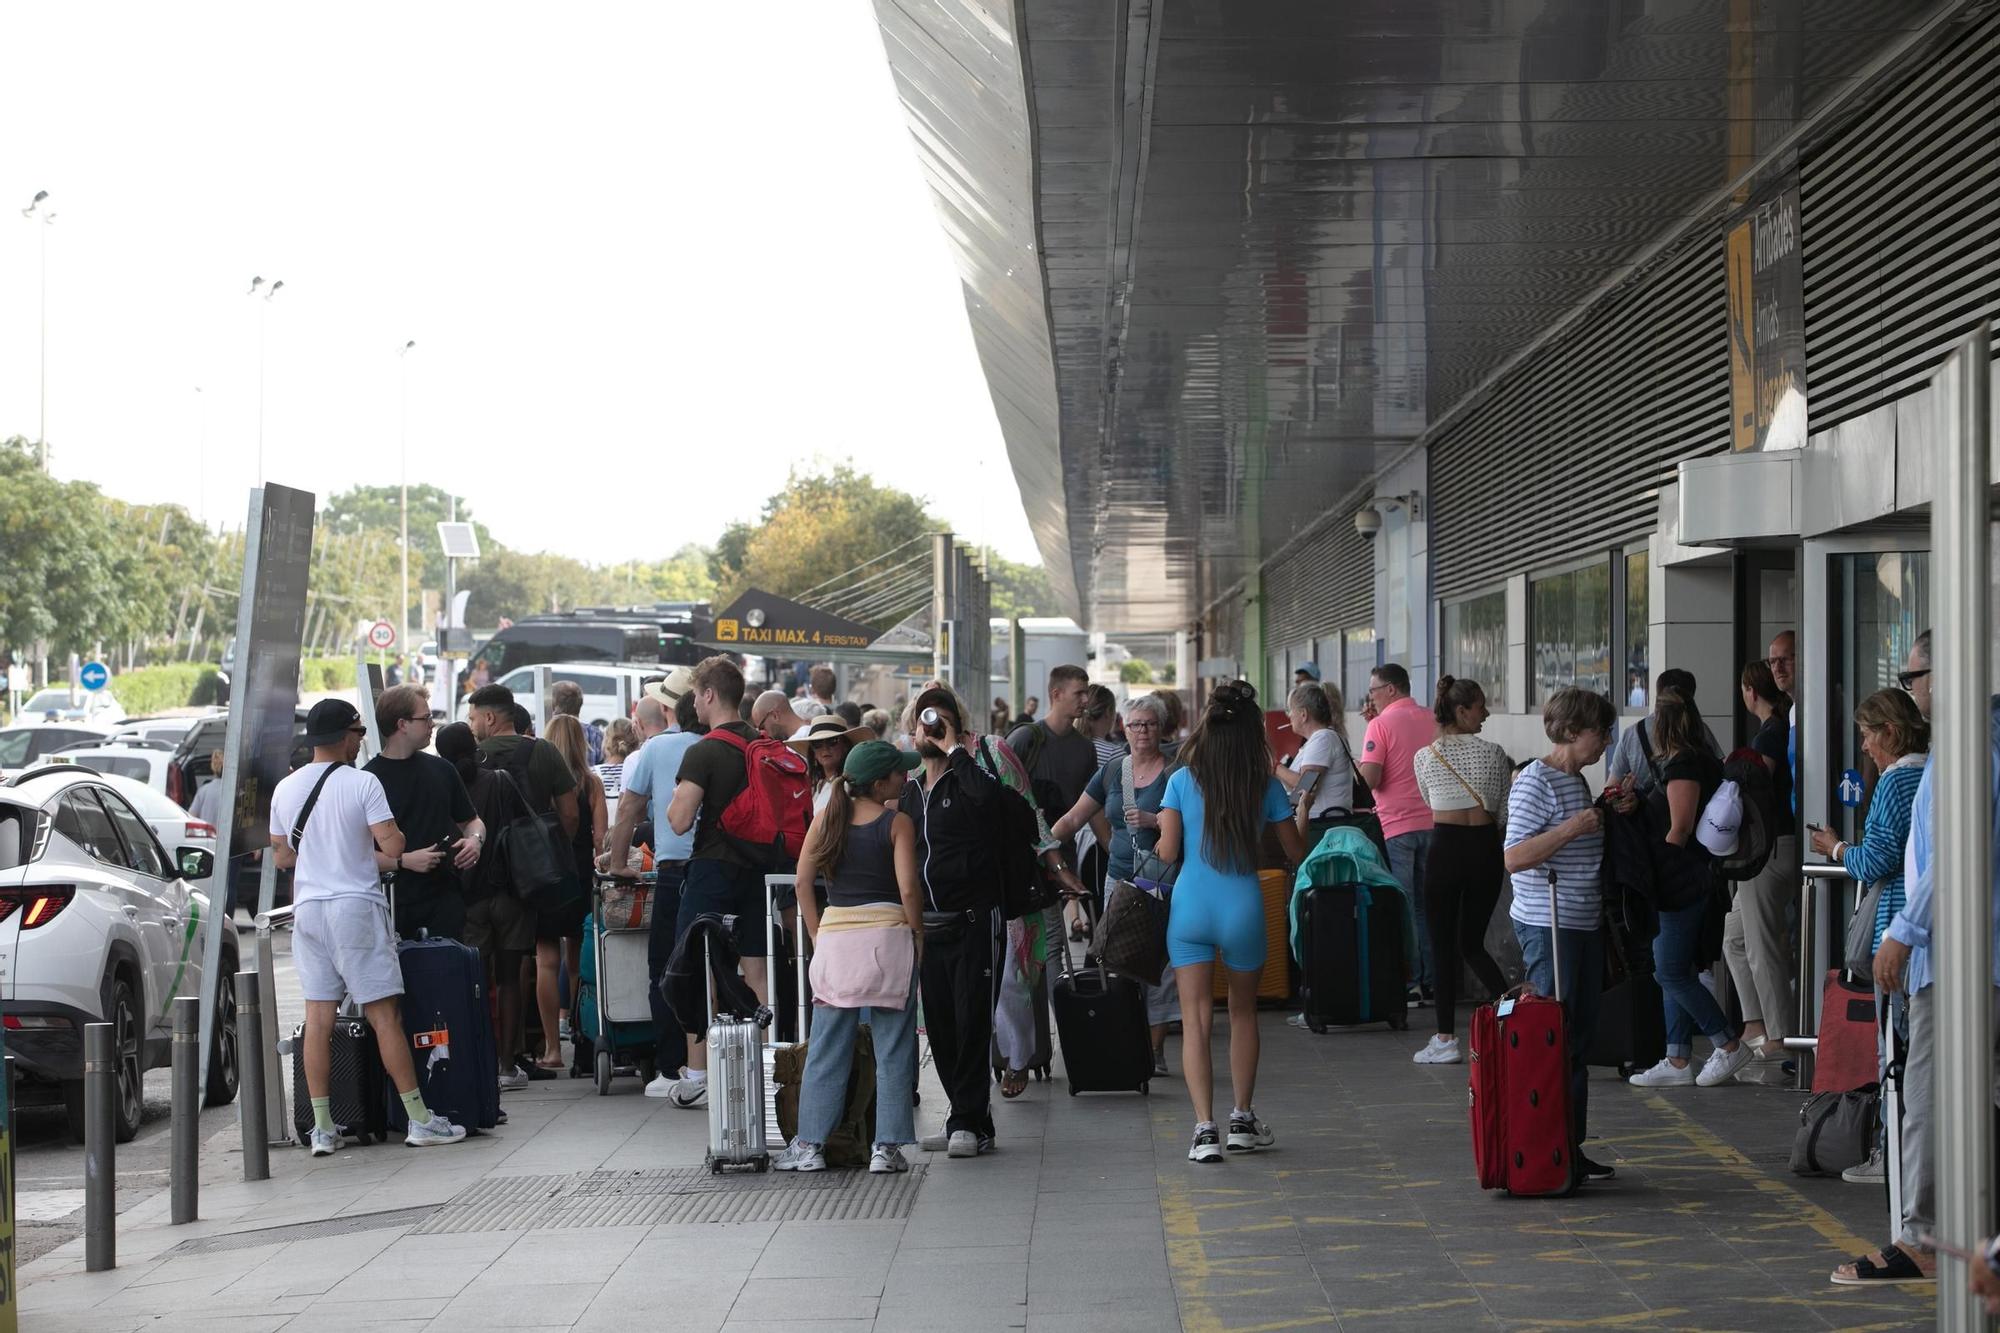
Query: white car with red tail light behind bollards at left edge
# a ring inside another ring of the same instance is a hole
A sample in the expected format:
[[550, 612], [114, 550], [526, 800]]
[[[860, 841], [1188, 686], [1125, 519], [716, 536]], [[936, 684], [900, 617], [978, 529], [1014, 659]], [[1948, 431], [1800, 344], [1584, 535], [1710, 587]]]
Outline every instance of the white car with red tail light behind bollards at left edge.
[[[140, 1127], [146, 1071], [170, 1063], [174, 999], [202, 995], [210, 909], [194, 881], [214, 873], [214, 839], [162, 843], [162, 825], [148, 823], [136, 797], [134, 785], [80, 765], [32, 769], [0, 787], [0, 1023], [22, 1099], [60, 1093], [78, 1143], [84, 1025], [116, 1029], [124, 1143]], [[236, 1097], [236, 957], [224, 923], [212, 1107]]]

